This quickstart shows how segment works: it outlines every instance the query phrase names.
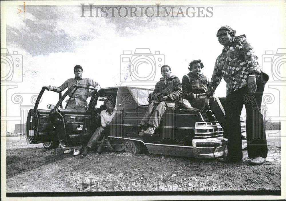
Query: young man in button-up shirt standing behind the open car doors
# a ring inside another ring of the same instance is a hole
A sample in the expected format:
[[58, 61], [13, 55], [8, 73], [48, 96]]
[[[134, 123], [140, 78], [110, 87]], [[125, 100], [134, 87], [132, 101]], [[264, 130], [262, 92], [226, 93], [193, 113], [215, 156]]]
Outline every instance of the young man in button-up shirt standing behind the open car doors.
[[[76, 65], [74, 67], [74, 75], [75, 75], [74, 78], [68, 79], [59, 87], [56, 86], [50, 87], [49, 90], [56, 91], [59, 93], [73, 85], [79, 85], [83, 87], [94, 87], [95, 89], [97, 89], [97, 91], [100, 90], [100, 85], [97, 82], [93, 81], [90, 78], [82, 77], [82, 71], [83, 71], [82, 67], [80, 65]], [[69, 101], [67, 108], [75, 110], [85, 110], [85, 106], [87, 105], [86, 99], [88, 98], [89, 90], [78, 88], [74, 94], [73, 92], [74, 90], [72, 90], [69, 93], [69, 97], [72, 96], [72, 98]], [[79, 149], [81, 149], [82, 146], [80, 145], [72, 148], [74, 149], [74, 156], [76, 156], [80, 154]], [[65, 150], [64, 153], [66, 154], [72, 152], [72, 148]]]

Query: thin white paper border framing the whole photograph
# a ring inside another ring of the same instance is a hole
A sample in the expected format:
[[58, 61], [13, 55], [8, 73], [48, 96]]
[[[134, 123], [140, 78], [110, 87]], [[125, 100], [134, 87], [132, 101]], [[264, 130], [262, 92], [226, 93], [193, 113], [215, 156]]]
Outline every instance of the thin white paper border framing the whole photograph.
[[[280, 4], [281, 9], [285, 11], [285, 1], [25, 1], [25, 5], [79, 5], [80, 3], [94, 3], [96, 5], [154, 5], [155, 3], [161, 3], [161, 5], [243, 5], [243, 6], [259, 6], [259, 5], [273, 5], [273, 4]], [[6, 27], [5, 27], [5, 12], [6, 6], [10, 5], [23, 5], [23, 1], [1, 1], [1, 48], [5, 48], [6, 44]], [[79, 13], [80, 15], [80, 13]], [[284, 27], [284, 28], [283, 28]], [[281, 26], [281, 31], [285, 32], [285, 24]], [[1, 73], [5, 69], [1, 69]], [[3, 72], [5, 73], [5, 72]], [[1, 86], [1, 92], [6, 91], [5, 88]], [[3, 93], [1, 93], [2, 97]], [[283, 95], [282, 100], [286, 100], [285, 94]], [[5, 99], [1, 98], [1, 114], [5, 112]], [[281, 114], [286, 114], [285, 107], [282, 108]], [[286, 116], [286, 115], [285, 115]], [[285, 127], [281, 126], [281, 133], [285, 133]], [[6, 197], [6, 138], [2, 135], [2, 133], [6, 132], [5, 124], [1, 121], [1, 196], [2, 200], [55, 200], [59, 199], [62, 200], [63, 197], [25, 197], [25, 198], [17, 198], [17, 197]], [[285, 153], [286, 153], [286, 139], [285, 137], [281, 138], [281, 196], [98, 196], [96, 200], [106, 200], [106, 199], [116, 199], [116, 200], [189, 200], [189, 199], [198, 199], [198, 200], [240, 200], [240, 199], [285, 199], [286, 198], [286, 169], [285, 169]], [[282, 146], [283, 145], [283, 146]], [[183, 193], [182, 193], [183, 194]], [[65, 198], [67, 199], [67, 198]], [[68, 200], [94, 200], [94, 197], [68, 197]]]

